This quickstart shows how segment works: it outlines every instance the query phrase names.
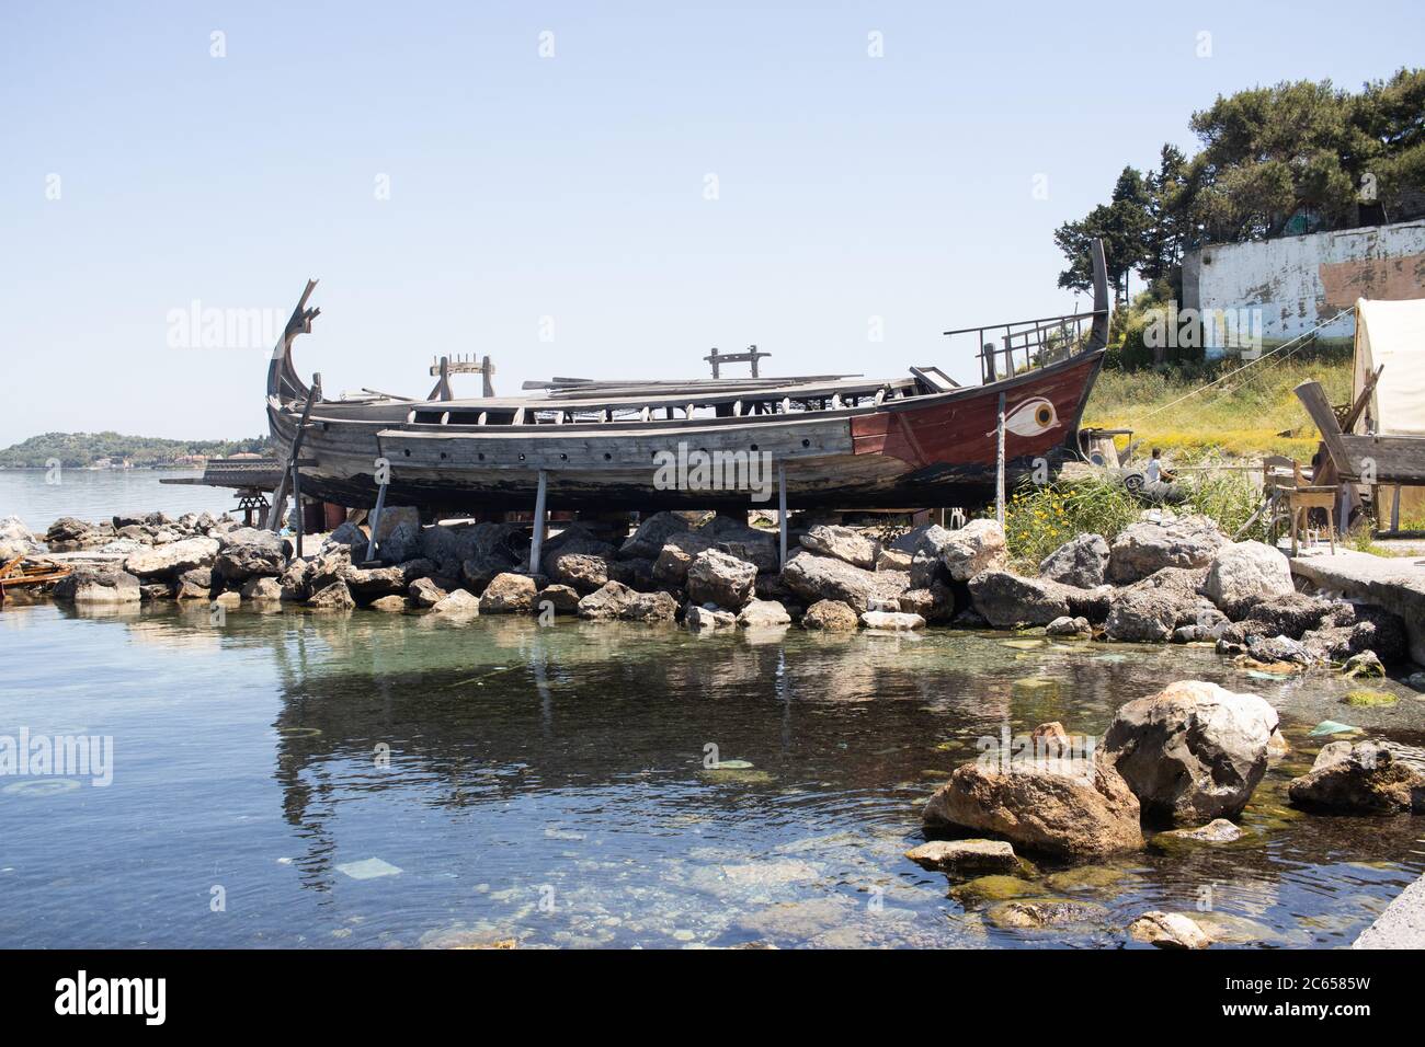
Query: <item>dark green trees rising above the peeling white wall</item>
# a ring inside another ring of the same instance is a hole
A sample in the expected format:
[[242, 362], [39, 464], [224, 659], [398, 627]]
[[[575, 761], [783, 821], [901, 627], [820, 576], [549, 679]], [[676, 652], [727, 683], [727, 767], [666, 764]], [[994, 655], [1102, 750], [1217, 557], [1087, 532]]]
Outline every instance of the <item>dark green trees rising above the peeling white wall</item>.
[[1201, 151], [1168, 144], [1156, 171], [1123, 168], [1107, 204], [1054, 232], [1069, 268], [1059, 286], [1087, 291], [1087, 245], [1103, 238], [1126, 301], [1136, 271], [1156, 301], [1181, 299], [1183, 251], [1415, 218], [1425, 188], [1425, 70], [1361, 91], [1330, 80], [1218, 95], [1194, 113]]

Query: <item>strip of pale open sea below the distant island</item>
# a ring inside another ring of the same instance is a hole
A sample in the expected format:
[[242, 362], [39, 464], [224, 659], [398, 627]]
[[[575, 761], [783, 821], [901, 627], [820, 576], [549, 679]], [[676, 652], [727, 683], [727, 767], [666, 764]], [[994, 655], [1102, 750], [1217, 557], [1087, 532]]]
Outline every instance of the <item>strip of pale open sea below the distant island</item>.
[[170, 469], [0, 469], [0, 516], [14, 513], [26, 527], [44, 537], [61, 516], [80, 520], [108, 520], [120, 516], [145, 516], [162, 510], [178, 517], [184, 513], [234, 510], [234, 491], [195, 484], [160, 483], [178, 477], [201, 476], [201, 470]]

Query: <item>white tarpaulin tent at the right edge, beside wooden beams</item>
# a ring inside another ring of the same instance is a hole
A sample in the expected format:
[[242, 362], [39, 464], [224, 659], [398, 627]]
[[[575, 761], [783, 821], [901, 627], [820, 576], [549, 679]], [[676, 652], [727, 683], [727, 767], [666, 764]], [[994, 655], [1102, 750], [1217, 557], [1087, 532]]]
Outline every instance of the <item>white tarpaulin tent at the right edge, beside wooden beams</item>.
[[1354, 432], [1425, 436], [1425, 298], [1357, 301], [1352, 400], [1381, 365], [1385, 370]]

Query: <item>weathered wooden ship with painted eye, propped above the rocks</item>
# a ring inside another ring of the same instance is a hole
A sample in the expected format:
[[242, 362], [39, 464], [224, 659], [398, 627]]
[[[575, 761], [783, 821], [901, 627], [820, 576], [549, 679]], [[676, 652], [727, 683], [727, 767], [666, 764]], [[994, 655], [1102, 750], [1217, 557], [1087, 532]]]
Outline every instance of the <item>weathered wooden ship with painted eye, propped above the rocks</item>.
[[[1084, 403], [1109, 342], [1103, 246], [1092, 246], [1093, 309], [945, 332], [976, 335], [982, 382], [938, 368], [905, 377], [767, 377], [767, 353], [718, 355], [711, 379], [526, 383], [494, 395], [489, 358], [442, 359], [426, 397], [376, 390], [326, 399], [305, 383], [292, 343], [319, 309], [308, 282], [268, 368], [266, 412], [291, 494], [349, 507], [432, 511], [748, 509], [750, 491], [657, 484], [660, 454], [760, 456], [792, 509], [949, 507], [995, 497], [1043, 460], [1076, 456]], [[750, 362], [747, 377], [722, 365]], [[453, 396], [476, 372], [484, 396]], [[770, 456], [770, 457], [767, 457]], [[727, 460], [732, 460], [728, 457]], [[294, 490], [294, 487], [296, 490]], [[278, 514], [279, 516], [279, 514]]]

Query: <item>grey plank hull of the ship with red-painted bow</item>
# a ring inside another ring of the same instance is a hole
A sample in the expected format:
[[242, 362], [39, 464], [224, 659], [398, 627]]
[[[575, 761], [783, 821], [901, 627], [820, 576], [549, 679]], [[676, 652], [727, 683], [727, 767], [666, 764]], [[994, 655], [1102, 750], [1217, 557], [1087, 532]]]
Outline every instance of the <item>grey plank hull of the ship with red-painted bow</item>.
[[[413, 423], [408, 405], [321, 402], [298, 454], [302, 494], [370, 507], [386, 476], [386, 504], [530, 510], [543, 472], [550, 509], [775, 509], [784, 474], [791, 509], [969, 509], [995, 496], [1000, 396], [1012, 486], [1073, 453], [1102, 363], [1093, 350], [982, 386], [752, 417], [487, 427]], [[1042, 402], [1053, 424], [1013, 420]], [[299, 409], [269, 397], [268, 417], [289, 453]], [[698, 474], [700, 456], [725, 467]]]

